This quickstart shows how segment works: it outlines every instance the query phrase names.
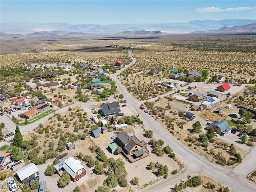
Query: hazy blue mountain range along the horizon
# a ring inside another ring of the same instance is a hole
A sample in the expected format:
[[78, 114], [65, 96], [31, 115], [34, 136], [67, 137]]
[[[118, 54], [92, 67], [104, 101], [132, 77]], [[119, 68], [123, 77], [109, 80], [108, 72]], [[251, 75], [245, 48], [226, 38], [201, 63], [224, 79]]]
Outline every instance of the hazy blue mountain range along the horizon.
[[[1, 23], [1, 32], [6, 34], [31, 34], [42, 31], [82, 32], [86, 34], [118, 34], [124, 31], [161, 31], [167, 34], [210, 32], [223, 27], [244, 26], [255, 24], [256, 20], [226, 19], [226, 20], [195, 20], [188, 23], [165, 24], [67, 24], [67, 23]], [[67, 35], [67, 34], [66, 34]]]

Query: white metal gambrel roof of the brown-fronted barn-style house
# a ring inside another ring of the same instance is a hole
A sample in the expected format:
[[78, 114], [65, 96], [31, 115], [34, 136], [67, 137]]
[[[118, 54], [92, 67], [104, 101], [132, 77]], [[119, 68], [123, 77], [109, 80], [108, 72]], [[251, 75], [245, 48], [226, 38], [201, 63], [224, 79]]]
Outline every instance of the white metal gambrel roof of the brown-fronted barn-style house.
[[72, 176], [72, 178], [75, 178], [76, 173], [84, 169], [84, 167], [81, 165], [81, 162], [79, 160], [75, 160], [73, 157], [69, 157], [66, 160], [64, 160], [63, 168]]

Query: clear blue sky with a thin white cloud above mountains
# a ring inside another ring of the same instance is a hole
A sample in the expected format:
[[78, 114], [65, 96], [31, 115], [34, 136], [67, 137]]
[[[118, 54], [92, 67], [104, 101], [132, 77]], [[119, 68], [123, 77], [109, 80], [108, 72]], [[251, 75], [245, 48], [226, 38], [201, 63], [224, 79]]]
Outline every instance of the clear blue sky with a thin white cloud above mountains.
[[140, 24], [256, 19], [254, 0], [1, 0], [1, 23]]

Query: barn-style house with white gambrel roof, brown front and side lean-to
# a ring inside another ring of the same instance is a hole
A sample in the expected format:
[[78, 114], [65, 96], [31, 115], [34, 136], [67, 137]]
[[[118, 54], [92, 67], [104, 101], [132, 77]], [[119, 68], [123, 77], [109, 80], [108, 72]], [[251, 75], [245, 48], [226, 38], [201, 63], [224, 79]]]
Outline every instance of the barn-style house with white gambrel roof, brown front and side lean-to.
[[66, 160], [54, 165], [54, 168], [58, 171], [66, 170], [73, 182], [78, 181], [80, 178], [86, 175], [86, 170], [80, 160], [76, 160], [73, 157], [69, 157]]

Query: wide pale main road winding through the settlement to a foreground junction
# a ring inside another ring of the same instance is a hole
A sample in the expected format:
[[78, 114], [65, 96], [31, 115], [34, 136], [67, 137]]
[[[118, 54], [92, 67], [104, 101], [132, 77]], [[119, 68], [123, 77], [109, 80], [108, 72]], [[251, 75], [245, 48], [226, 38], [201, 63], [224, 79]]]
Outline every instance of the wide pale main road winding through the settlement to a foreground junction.
[[[128, 50], [129, 56], [130, 50]], [[132, 58], [133, 61], [130, 65], [134, 64], [136, 59]], [[129, 65], [129, 66], [130, 66]], [[127, 66], [127, 67], [129, 67]], [[122, 69], [125, 70], [125, 69]], [[150, 129], [154, 132], [154, 138], [164, 140], [165, 145], [171, 146], [177, 158], [181, 160], [185, 168], [181, 173], [175, 176], [168, 177], [167, 179], [161, 180], [152, 186], [148, 186], [145, 189], [140, 191], [169, 191], [171, 187], [174, 187], [176, 183], [179, 183], [180, 180], [187, 180], [188, 175], [199, 175], [209, 176], [217, 182], [222, 183], [224, 186], [228, 186], [231, 191], [237, 192], [253, 192], [255, 191], [256, 185], [251, 181], [247, 180], [245, 176], [256, 168], [256, 150], [255, 147], [252, 149], [251, 153], [246, 156], [243, 161], [244, 163], [241, 166], [238, 166], [235, 170], [230, 170], [224, 168], [215, 163], [208, 162], [202, 156], [199, 156], [176, 138], [174, 138], [169, 132], [167, 132], [158, 122], [156, 122], [149, 114], [143, 112], [139, 109], [141, 101], [134, 99], [126, 90], [124, 86], [116, 79], [116, 76], [122, 72], [112, 75], [112, 79], [116, 81], [118, 89], [124, 95], [124, 98], [128, 100], [135, 110], [138, 111], [140, 116], [144, 119], [144, 127]], [[193, 85], [191, 85], [193, 86]], [[245, 162], [249, 162], [248, 164]]]

